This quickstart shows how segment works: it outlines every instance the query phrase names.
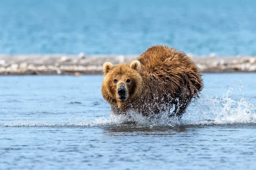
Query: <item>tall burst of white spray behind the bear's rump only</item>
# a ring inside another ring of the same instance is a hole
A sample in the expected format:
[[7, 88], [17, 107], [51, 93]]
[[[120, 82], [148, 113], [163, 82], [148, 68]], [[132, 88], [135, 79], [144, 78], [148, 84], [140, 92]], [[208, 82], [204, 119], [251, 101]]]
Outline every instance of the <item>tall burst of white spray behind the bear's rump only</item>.
[[[202, 95], [198, 102], [192, 103], [183, 123], [191, 125], [226, 125], [226, 124], [254, 124], [256, 123], [255, 107], [242, 97], [235, 101], [228, 96], [229, 91], [218, 99]], [[195, 111], [197, 109], [197, 111]]]

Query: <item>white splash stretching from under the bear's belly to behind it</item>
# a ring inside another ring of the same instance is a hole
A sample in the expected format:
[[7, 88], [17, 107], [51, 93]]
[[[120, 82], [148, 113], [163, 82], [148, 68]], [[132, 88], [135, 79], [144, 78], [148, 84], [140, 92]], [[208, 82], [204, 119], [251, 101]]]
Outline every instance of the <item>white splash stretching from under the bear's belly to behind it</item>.
[[[256, 111], [253, 104], [246, 101], [244, 94], [239, 94], [238, 99], [232, 99], [230, 94], [236, 88], [236, 83], [232, 82], [228, 91], [221, 98], [218, 96], [202, 93], [201, 98], [192, 102], [183, 118], [169, 118], [169, 113], [161, 113], [151, 117], [141, 116], [139, 113], [131, 111], [128, 115], [110, 114], [108, 119], [102, 117], [85, 124], [90, 126], [98, 125], [125, 125], [133, 122], [137, 127], [149, 126], [170, 126], [177, 125], [227, 125], [227, 124], [256, 124]], [[242, 86], [239, 85], [239, 92], [242, 93]]]

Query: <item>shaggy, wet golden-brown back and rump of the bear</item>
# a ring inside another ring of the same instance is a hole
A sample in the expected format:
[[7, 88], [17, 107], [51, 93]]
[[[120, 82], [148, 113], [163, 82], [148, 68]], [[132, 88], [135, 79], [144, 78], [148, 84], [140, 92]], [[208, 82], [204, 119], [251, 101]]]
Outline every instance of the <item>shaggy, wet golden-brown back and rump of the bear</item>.
[[147, 79], [150, 93], [179, 95], [189, 88], [189, 98], [203, 88], [201, 73], [195, 63], [183, 53], [168, 46], [155, 45], [140, 57], [141, 73]]

